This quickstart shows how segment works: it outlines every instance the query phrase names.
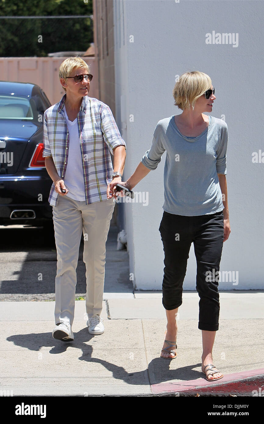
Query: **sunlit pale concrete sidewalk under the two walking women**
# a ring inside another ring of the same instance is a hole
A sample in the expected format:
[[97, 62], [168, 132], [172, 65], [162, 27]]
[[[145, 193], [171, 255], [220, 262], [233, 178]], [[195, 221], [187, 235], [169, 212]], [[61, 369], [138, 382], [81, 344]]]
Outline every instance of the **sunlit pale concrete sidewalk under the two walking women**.
[[[226, 382], [263, 379], [263, 292], [220, 292], [214, 364], [225, 377], [214, 385], [200, 368], [197, 293], [183, 294], [178, 357], [171, 361], [159, 357], [166, 326], [161, 293], [111, 292], [104, 298], [106, 330], [100, 336], [89, 335], [85, 301], [75, 301], [72, 343], [52, 338], [53, 301], [1, 302], [1, 390], [14, 396], [148, 396], [208, 387], [217, 395]], [[259, 384], [251, 389], [258, 391]]]

